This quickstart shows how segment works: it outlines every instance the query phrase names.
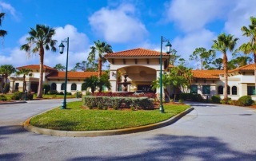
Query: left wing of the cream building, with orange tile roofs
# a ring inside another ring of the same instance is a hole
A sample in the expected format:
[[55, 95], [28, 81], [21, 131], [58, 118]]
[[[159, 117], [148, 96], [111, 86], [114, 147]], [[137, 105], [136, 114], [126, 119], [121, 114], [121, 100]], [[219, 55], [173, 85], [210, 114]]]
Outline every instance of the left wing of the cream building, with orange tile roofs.
[[[17, 69], [30, 69], [31, 72], [26, 75], [26, 90], [29, 92], [38, 92], [39, 84], [39, 65], [26, 65]], [[77, 91], [82, 91], [82, 84], [87, 77], [98, 76], [98, 72], [68, 72], [66, 91], [74, 94]], [[10, 92], [22, 91], [23, 75], [14, 75], [9, 77]], [[43, 66], [43, 84], [50, 84], [51, 90], [64, 92], [65, 72], [59, 72], [49, 66]], [[86, 92], [86, 91], [83, 91]]]

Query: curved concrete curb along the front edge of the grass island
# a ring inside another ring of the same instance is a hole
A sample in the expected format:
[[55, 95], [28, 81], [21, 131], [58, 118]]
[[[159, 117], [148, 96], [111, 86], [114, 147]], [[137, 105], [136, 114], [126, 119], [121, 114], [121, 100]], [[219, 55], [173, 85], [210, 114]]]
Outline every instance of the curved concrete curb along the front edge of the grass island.
[[106, 135], [122, 135], [122, 134], [130, 134], [135, 132], [146, 132], [149, 130], [154, 130], [156, 128], [162, 128], [170, 124], [174, 124], [176, 121], [182, 118], [182, 116], [186, 116], [189, 112], [193, 111], [194, 108], [188, 108], [186, 111], [179, 113], [176, 116], [171, 117], [169, 120], [162, 121], [156, 124], [149, 124], [146, 126], [136, 127], [136, 128], [125, 128], [118, 130], [106, 130], [106, 131], [60, 131], [60, 130], [51, 130], [46, 128], [38, 128], [34, 127], [30, 124], [30, 119], [26, 120], [23, 124], [23, 128], [27, 131], [34, 132], [37, 134], [43, 135], [54, 135], [54, 136], [66, 136], [66, 137], [88, 137], [88, 136], [106, 136]]

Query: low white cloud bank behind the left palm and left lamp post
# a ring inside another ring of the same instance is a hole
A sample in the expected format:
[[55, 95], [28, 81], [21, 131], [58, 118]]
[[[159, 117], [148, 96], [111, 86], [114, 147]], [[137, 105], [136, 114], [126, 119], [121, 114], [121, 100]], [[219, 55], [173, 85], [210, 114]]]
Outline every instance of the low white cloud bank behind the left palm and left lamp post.
[[[26, 37], [29, 35], [26, 34], [19, 39], [19, 45], [26, 44]], [[70, 38], [70, 49], [69, 49], [69, 69], [73, 69], [74, 65], [78, 62], [86, 61], [89, 53], [89, 40], [85, 33], [79, 33], [78, 30], [71, 25], [66, 25], [63, 27], [56, 28], [56, 34], [53, 39], [58, 40], [58, 43], [55, 45], [57, 48], [56, 53], [51, 51], [45, 51], [44, 64], [54, 67], [58, 63], [66, 66], [66, 52], [60, 54], [58, 51], [58, 45], [66, 37]], [[66, 43], [64, 44], [66, 45]], [[6, 64], [6, 62], [11, 62], [9, 64], [14, 65], [14, 67], [22, 65], [39, 65], [39, 56], [38, 53], [32, 54], [30, 59], [26, 57], [26, 52], [21, 51], [20, 47], [15, 47], [14, 49], [6, 49], [3, 53], [10, 53], [9, 56], [3, 56], [0, 53], [0, 64]], [[65, 48], [66, 51], [66, 48]]]

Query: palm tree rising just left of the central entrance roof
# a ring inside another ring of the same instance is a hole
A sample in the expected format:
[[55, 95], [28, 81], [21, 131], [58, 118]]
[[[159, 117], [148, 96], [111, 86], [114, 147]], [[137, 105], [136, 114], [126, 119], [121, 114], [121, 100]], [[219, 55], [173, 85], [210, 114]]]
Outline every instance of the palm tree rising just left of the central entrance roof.
[[111, 45], [108, 45], [104, 41], [99, 41], [96, 42], [94, 41], [95, 46], [91, 46], [90, 53], [88, 56], [88, 60], [94, 61], [96, 57], [96, 53], [98, 53], [98, 77], [102, 76], [102, 63], [106, 62], [106, 59], [103, 57], [103, 53], [113, 53]]

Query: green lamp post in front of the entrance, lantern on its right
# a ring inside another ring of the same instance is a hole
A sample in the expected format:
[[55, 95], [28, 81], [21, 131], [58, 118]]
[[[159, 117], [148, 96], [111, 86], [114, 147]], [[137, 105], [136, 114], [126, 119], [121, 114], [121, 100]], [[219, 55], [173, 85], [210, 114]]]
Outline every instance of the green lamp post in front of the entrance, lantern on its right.
[[166, 53], [170, 53], [170, 48], [171, 48], [171, 45], [170, 45], [170, 41], [169, 40], [166, 40], [164, 37], [161, 37], [161, 49], [160, 49], [160, 107], [159, 107], [159, 111], [161, 113], [164, 113], [165, 112], [165, 109], [163, 108], [162, 106], [162, 42], [165, 42], [167, 41], [167, 44], [166, 44]]

